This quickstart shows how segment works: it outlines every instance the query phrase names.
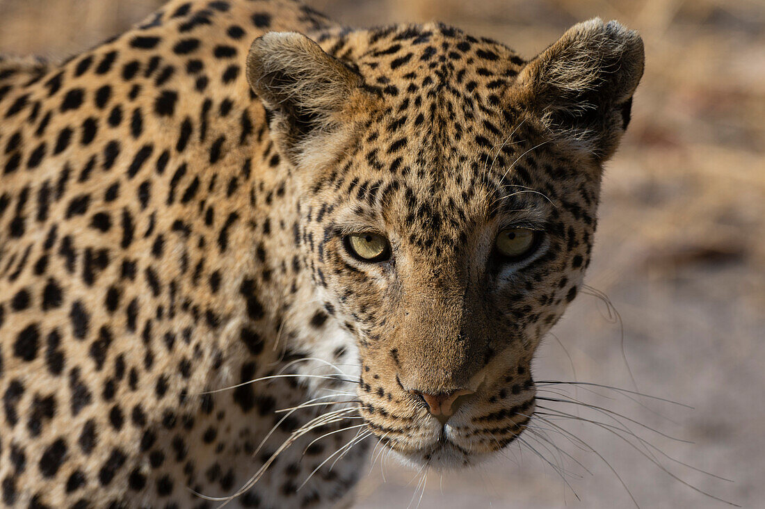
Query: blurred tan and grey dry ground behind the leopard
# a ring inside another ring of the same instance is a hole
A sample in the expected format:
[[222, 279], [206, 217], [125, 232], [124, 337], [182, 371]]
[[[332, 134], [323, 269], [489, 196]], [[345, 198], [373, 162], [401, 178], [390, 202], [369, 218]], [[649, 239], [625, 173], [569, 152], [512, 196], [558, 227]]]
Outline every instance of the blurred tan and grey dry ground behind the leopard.
[[[0, 52], [67, 57], [161, 3], [0, 0]], [[593, 290], [576, 299], [543, 344], [535, 379], [601, 383], [694, 407], [591, 386], [545, 387], [555, 391], [547, 396], [565, 393], [693, 443], [620, 418], [651, 449], [604, 413], [545, 403], [607, 426], [539, 423], [540, 436], [524, 434], [526, 444], [516, 442], [503, 458], [425, 481], [378, 458], [356, 507], [631, 507], [630, 494], [640, 507], [725, 507], [672, 475], [744, 507], [765, 507], [765, 2], [307, 3], [355, 26], [444, 21], [526, 57], [594, 16], [640, 31], [646, 73], [630, 129], [607, 165], [586, 279]], [[591, 295], [601, 293], [612, 305]], [[565, 453], [545, 442], [545, 433]]]

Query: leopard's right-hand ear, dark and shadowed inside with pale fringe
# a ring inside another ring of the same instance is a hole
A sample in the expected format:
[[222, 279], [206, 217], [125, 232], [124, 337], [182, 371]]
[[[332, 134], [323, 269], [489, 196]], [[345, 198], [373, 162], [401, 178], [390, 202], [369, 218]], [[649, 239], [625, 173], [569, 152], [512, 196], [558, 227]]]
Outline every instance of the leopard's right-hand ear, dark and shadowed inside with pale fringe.
[[643, 76], [643, 40], [616, 21], [576, 24], [531, 60], [516, 82], [520, 106], [571, 150], [609, 158], [630, 122]]

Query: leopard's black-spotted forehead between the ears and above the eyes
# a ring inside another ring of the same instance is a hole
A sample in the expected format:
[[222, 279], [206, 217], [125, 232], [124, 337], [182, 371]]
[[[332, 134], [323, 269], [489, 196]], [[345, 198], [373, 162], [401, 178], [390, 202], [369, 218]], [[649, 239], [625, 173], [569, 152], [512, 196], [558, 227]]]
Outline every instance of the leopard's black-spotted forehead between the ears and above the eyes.
[[345, 207], [439, 253], [503, 210], [544, 217], [545, 196], [557, 191], [549, 168], [565, 162], [538, 161], [544, 133], [506, 101], [525, 64], [512, 50], [425, 24], [340, 36], [328, 51], [355, 67], [383, 106], [318, 178], [322, 217]]

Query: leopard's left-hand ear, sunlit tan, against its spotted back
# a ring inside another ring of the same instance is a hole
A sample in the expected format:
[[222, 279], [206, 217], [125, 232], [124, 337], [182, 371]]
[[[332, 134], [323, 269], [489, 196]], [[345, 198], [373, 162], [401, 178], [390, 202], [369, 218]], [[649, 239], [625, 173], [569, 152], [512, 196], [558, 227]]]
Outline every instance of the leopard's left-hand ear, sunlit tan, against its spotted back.
[[295, 32], [269, 32], [253, 41], [247, 80], [273, 113], [272, 136], [293, 161], [303, 142], [342, 126], [369, 95], [359, 74]]

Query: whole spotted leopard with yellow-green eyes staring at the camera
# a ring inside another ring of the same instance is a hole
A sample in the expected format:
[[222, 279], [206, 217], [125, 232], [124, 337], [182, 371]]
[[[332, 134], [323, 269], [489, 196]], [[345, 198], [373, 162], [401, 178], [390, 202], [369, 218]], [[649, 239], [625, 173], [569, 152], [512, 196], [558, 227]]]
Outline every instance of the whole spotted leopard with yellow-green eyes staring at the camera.
[[526, 59], [294, 0], [0, 60], [2, 504], [350, 507], [373, 445], [495, 456], [643, 60], [617, 21]]

